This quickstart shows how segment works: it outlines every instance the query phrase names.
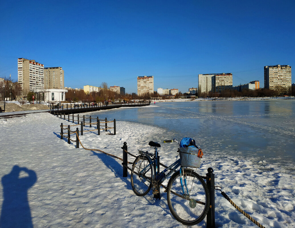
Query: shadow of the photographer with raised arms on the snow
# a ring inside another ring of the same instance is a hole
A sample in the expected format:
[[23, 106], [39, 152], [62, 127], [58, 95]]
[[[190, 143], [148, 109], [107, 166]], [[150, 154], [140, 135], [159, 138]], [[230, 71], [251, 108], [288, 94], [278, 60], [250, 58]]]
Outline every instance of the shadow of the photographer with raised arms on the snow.
[[1, 181], [4, 199], [0, 227], [33, 227], [27, 191], [37, 181], [35, 171], [25, 167], [13, 166], [11, 172], [3, 176]]

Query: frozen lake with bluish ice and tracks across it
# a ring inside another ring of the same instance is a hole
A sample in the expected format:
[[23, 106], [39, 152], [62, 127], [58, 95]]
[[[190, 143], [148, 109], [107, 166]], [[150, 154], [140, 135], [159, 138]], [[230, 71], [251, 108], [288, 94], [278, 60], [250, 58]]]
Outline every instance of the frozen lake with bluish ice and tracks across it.
[[[165, 128], [163, 139], [194, 138], [205, 153], [295, 163], [295, 101], [156, 102], [153, 108], [91, 113]], [[163, 145], [164, 146], [164, 145]], [[213, 155], [212, 154], [212, 155]], [[290, 165], [290, 164], [289, 164]], [[293, 166], [294, 167], [294, 166]]]

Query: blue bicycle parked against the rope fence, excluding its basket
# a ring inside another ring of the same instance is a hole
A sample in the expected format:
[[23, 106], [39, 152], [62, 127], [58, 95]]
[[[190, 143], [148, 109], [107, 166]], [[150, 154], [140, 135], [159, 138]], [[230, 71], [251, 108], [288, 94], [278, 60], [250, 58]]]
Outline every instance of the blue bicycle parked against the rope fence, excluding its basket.
[[[168, 142], [178, 143], [176, 138], [164, 141]], [[203, 178], [191, 168], [181, 166], [181, 158], [159, 172], [158, 148], [161, 145], [153, 141], [148, 145], [155, 149], [155, 153], [138, 150], [139, 155], [132, 165], [131, 186], [135, 194], [145, 196], [150, 189], [154, 195], [159, 194], [160, 184], [174, 172], [166, 189], [171, 214], [185, 225], [201, 222], [207, 215], [210, 204], [209, 190]], [[178, 167], [179, 171], [176, 171]]]

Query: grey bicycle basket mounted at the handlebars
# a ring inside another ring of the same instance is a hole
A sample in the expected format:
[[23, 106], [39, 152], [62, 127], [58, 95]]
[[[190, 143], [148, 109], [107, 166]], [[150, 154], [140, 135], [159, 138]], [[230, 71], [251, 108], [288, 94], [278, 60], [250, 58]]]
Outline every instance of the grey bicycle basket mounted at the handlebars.
[[201, 158], [198, 157], [199, 148], [185, 147], [178, 148], [181, 166], [199, 168], [201, 165]]

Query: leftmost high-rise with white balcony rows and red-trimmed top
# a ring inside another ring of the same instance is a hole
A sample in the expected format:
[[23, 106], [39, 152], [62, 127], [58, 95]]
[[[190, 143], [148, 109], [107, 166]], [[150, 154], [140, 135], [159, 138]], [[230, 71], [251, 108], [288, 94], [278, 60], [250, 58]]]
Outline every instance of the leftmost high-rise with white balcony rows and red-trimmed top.
[[17, 59], [17, 80], [23, 90], [44, 89], [44, 65], [35, 60]]

